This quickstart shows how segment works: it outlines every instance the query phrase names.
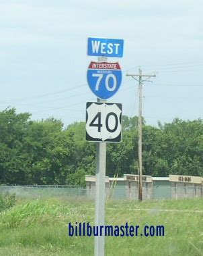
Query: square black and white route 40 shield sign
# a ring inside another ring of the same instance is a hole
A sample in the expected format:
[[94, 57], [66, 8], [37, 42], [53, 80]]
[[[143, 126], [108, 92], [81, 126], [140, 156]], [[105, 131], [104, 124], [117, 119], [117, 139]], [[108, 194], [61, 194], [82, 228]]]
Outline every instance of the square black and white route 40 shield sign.
[[122, 105], [87, 102], [86, 140], [118, 143], [121, 140]]

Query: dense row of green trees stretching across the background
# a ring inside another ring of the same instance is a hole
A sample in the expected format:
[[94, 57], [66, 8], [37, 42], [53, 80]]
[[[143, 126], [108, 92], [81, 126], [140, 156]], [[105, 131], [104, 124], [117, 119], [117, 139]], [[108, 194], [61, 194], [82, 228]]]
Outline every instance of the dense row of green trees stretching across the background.
[[[108, 143], [106, 175], [137, 174], [138, 118], [122, 117], [122, 142]], [[95, 175], [95, 143], [85, 141], [85, 122], [33, 121], [15, 108], [0, 111], [0, 184], [85, 186]], [[143, 174], [203, 176], [203, 122], [180, 120], [157, 127], [143, 120]]]

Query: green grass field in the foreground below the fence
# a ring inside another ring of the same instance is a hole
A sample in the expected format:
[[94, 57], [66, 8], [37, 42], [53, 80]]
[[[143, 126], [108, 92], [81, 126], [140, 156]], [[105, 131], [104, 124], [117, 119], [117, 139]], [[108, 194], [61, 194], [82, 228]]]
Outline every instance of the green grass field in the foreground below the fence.
[[[93, 237], [68, 236], [69, 222], [94, 224], [91, 201], [17, 201], [0, 213], [0, 255], [93, 255]], [[114, 201], [106, 224], [165, 226], [165, 236], [106, 237], [106, 255], [203, 255], [203, 201]]]

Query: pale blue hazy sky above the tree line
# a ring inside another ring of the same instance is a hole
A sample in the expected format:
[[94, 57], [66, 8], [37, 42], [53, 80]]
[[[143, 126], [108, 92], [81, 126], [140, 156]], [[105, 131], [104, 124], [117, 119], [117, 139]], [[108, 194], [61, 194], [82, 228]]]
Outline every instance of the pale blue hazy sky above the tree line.
[[87, 39], [124, 40], [122, 84], [108, 101], [138, 116], [138, 82], [126, 74], [156, 74], [143, 84], [143, 117], [157, 126], [203, 114], [203, 2], [200, 0], [0, 0], [0, 111], [15, 107], [32, 120], [85, 122], [96, 101], [87, 84]]

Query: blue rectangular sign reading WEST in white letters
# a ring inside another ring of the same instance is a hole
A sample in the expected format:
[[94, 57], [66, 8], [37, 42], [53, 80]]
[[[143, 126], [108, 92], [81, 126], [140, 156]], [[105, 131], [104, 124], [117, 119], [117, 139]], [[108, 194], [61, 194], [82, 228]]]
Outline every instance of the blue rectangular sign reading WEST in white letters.
[[103, 57], [122, 57], [124, 41], [122, 39], [98, 39], [89, 37], [87, 55]]

